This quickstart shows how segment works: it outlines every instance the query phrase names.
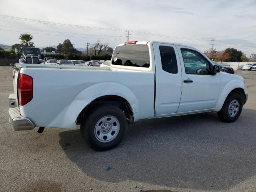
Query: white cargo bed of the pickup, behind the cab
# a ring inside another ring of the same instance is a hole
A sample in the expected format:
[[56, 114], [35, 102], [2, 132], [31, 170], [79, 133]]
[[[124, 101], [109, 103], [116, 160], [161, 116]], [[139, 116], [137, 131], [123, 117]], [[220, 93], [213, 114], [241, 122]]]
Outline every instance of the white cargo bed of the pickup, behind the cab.
[[154, 117], [154, 72], [42, 64], [12, 67], [17, 106], [18, 74], [33, 78], [32, 100], [18, 107], [35, 126], [74, 129], [84, 107], [109, 95], [126, 99], [134, 109], [134, 120]]

